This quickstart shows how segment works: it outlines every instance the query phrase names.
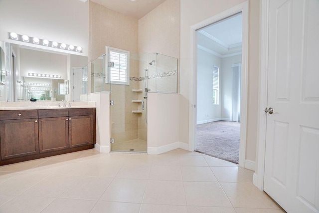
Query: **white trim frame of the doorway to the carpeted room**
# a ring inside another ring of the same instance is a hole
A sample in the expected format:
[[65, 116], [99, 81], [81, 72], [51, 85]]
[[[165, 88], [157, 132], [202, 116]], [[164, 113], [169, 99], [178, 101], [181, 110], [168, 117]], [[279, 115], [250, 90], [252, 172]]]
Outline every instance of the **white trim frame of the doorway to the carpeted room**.
[[[248, 2], [244, 2], [225, 10], [215, 16], [203, 20], [190, 27], [190, 55], [192, 57], [190, 67], [190, 108], [189, 108], [189, 142], [188, 150], [194, 151], [196, 146], [196, 124], [197, 124], [197, 37], [198, 31], [220, 22], [242, 12], [242, 76], [241, 76], [241, 103], [240, 103], [240, 141], [239, 141], [239, 160], [240, 167], [245, 167], [245, 150], [246, 150], [246, 120], [247, 120], [247, 64], [248, 64]], [[246, 167], [248, 168], [248, 167]], [[254, 168], [249, 168], [254, 169]]]

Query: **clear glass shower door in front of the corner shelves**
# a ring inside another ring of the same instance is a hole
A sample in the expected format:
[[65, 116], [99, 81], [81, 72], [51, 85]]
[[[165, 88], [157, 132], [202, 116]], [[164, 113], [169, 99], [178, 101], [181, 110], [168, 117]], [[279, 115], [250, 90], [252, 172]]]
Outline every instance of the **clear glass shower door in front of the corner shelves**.
[[[146, 111], [144, 87], [141, 87], [143, 77], [140, 76], [144, 73], [144, 71], [141, 71], [141, 67], [144, 67], [143, 62], [141, 63], [143, 54], [128, 54], [127, 60], [129, 60], [129, 63], [121, 62], [114, 55], [112, 57], [106, 55], [106, 57], [108, 57], [106, 61], [111, 65], [107, 67], [107, 70], [112, 69], [112, 72], [109, 71], [111, 75], [116, 75], [117, 68], [121, 69], [119, 73], [123, 73], [125, 69], [129, 73], [127, 75], [128, 84], [114, 81], [110, 83], [111, 100], [114, 101], [114, 105], [111, 106], [111, 137], [114, 139], [111, 150], [147, 152], [146, 137], [143, 137], [143, 131], [141, 130], [143, 114]], [[129, 67], [125, 68], [125, 64], [129, 64]], [[143, 127], [146, 129], [146, 125]]]

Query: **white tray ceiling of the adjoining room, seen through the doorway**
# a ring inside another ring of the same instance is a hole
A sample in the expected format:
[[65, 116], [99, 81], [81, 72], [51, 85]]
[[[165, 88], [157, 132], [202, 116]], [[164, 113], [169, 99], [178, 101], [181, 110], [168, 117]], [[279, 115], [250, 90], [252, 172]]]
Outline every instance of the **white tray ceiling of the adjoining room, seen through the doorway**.
[[238, 14], [199, 30], [198, 45], [222, 56], [241, 52], [242, 18]]

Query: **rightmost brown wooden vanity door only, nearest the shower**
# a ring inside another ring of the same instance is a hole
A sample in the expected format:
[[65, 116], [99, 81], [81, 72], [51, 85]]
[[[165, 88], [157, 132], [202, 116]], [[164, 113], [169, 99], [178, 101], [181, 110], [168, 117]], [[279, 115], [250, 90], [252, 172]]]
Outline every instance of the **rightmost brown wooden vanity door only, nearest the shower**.
[[69, 117], [70, 148], [94, 144], [93, 115]]

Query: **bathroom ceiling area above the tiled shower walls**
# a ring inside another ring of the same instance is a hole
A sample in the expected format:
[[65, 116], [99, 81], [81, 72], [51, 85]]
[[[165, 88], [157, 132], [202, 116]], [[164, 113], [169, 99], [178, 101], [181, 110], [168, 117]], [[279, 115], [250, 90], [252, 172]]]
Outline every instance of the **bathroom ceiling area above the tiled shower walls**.
[[152, 11], [165, 0], [91, 0], [117, 12], [138, 19]]

